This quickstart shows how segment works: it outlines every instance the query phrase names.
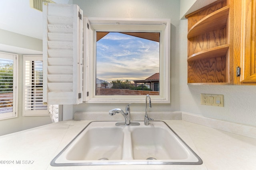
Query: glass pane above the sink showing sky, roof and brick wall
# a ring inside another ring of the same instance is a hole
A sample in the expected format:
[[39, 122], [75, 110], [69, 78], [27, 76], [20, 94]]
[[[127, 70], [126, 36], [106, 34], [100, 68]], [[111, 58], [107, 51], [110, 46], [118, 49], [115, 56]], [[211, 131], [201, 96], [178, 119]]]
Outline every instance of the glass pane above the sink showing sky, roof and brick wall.
[[[96, 96], [159, 95], [160, 33], [96, 32]], [[154, 75], [154, 77], [152, 77]]]

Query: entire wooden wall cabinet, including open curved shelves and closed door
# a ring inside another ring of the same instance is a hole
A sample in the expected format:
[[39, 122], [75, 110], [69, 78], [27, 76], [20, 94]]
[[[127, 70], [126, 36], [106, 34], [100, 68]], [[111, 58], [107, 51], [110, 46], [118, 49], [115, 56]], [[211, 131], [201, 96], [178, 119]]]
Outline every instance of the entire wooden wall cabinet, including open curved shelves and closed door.
[[188, 84], [256, 84], [255, 9], [256, 0], [217, 0], [186, 16]]

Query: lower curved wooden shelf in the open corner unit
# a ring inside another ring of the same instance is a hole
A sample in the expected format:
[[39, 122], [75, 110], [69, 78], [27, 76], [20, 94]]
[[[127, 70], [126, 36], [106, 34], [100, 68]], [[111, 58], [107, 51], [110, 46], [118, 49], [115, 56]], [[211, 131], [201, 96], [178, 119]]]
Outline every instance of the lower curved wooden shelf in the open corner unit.
[[228, 51], [229, 45], [221, 45], [218, 47], [214, 47], [211, 49], [207, 49], [204, 51], [200, 51], [198, 53], [195, 53], [193, 55], [190, 55], [187, 59], [188, 62], [190, 61], [196, 61], [196, 60], [202, 60], [202, 59], [210, 59], [215, 57], [222, 57], [226, 55]]

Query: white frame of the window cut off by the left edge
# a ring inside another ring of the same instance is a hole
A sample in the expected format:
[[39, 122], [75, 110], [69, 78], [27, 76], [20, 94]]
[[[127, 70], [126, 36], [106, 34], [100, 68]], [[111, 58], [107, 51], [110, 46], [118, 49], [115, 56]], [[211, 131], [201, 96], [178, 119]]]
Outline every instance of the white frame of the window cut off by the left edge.
[[0, 113], [0, 120], [18, 117], [18, 55], [0, 52], [0, 58], [13, 60], [13, 102], [12, 112]]

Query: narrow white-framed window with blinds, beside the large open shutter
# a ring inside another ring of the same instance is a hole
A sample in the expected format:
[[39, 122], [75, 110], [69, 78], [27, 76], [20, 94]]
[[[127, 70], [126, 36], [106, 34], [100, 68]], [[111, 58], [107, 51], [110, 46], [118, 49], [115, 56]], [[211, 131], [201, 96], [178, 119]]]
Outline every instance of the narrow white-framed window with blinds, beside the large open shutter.
[[43, 105], [42, 56], [23, 56], [23, 115], [49, 115]]

